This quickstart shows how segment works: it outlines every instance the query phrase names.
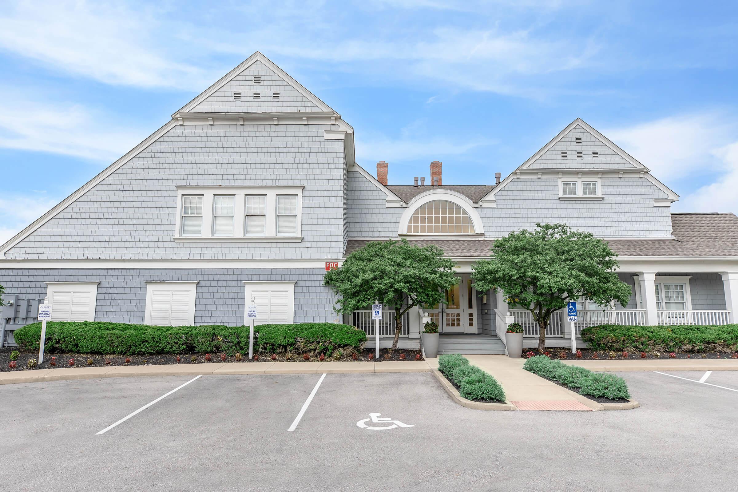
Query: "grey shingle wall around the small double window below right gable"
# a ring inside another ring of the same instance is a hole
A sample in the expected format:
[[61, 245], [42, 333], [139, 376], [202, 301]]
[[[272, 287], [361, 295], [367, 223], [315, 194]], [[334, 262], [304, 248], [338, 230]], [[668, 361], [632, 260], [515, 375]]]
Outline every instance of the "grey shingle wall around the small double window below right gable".
[[537, 222], [563, 222], [601, 238], [669, 238], [669, 207], [654, 207], [666, 198], [645, 178], [602, 178], [603, 200], [559, 200], [556, 178], [515, 178], [496, 194], [497, 207], [477, 209], [488, 237], [499, 238]]

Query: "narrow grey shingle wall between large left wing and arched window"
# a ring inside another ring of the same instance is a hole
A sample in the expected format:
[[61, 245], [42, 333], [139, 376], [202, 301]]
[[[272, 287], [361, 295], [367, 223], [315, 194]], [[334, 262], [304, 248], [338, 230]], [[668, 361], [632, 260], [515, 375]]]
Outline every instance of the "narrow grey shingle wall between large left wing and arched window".
[[396, 238], [404, 208], [387, 208], [387, 195], [361, 173], [348, 173], [349, 238]]

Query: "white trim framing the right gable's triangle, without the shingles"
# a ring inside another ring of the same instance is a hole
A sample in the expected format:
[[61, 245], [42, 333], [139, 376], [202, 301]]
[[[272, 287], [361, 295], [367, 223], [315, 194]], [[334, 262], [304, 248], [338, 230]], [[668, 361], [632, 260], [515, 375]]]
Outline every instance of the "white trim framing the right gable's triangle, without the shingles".
[[[604, 145], [607, 145], [607, 147], [613, 150], [613, 152], [617, 153], [623, 159], [627, 160], [627, 162], [629, 162], [633, 166], [633, 168], [632, 169], [613, 168], [613, 169], [607, 169], [607, 170], [604, 170], [604, 169], [553, 170], [553, 169], [539, 169], [539, 168], [530, 167], [531, 164], [533, 164], [537, 159], [539, 159], [539, 157], [542, 156], [546, 151], [548, 151], [554, 145], [556, 145], [559, 142], [559, 140], [561, 140], [566, 134], [568, 134], [576, 125], [582, 126], [584, 130], [596, 136]], [[494, 190], [487, 193], [484, 196], [484, 198], [482, 198], [479, 202], [483, 207], [495, 207], [496, 202], [495, 202], [494, 195], [497, 193], [497, 191], [502, 190], [503, 187], [506, 186], [506, 184], [508, 184], [510, 181], [512, 181], [516, 177], [520, 177], [523, 173], [525, 173], [525, 175], [537, 173], [542, 176], [543, 173], [551, 173], [551, 172], [559, 172], [559, 171], [565, 171], [565, 172], [570, 172], [570, 173], [571, 172], [573, 173], [603, 173], [603, 172], [641, 173], [639, 176], [642, 176], [648, 181], [651, 181], [652, 184], [655, 185], [655, 187], [658, 187], [659, 190], [663, 191], [663, 193], [666, 193], [666, 196], [669, 198], [670, 201], [677, 201], [679, 199], [679, 195], [677, 195], [673, 190], [667, 187], [666, 184], [663, 184], [661, 181], [659, 181], [658, 179], [656, 179], [654, 176], [651, 175], [651, 171], [648, 169], [648, 167], [644, 166], [644, 164], [641, 164], [641, 162], [638, 162], [638, 160], [634, 159], [632, 156], [630, 156], [629, 153], [619, 148], [613, 142], [610, 142], [610, 139], [608, 139], [606, 136], [601, 134], [599, 131], [596, 131], [594, 128], [588, 125], [587, 122], [584, 122], [582, 118], [577, 118], [573, 122], [570, 122], [566, 128], [560, 131], [558, 135], [554, 136], [554, 138], [551, 139], [551, 141], [548, 142], [546, 145], [544, 145], [540, 150], [538, 150], [537, 153], [534, 153], [533, 156], [530, 157], [530, 159], [523, 162], [523, 164], [520, 164], [520, 166], [517, 167], [516, 170], [514, 170], [512, 173], [506, 176], [506, 178], [503, 179], [503, 181], [500, 181], [500, 184], [497, 184], [497, 186], [494, 187]]]

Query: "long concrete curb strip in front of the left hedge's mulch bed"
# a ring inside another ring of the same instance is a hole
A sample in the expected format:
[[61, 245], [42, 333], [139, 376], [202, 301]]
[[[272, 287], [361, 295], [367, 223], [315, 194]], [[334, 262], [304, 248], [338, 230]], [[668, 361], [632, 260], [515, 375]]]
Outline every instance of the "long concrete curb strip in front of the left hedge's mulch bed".
[[[421, 362], [421, 364], [418, 364]], [[430, 366], [425, 361], [410, 361], [407, 367], [399, 362], [388, 364], [371, 362], [371, 366], [362, 362], [346, 362], [344, 364], [333, 361], [315, 362], [309, 367], [300, 367], [303, 362], [218, 362], [210, 364], [159, 364], [151, 366], [115, 366], [115, 367], [58, 367], [55, 369], [21, 370], [17, 373], [0, 373], [0, 385], [42, 383], [46, 381], [68, 381], [72, 379], [101, 379], [101, 378], [134, 378], [138, 376], [170, 376], [170, 375], [255, 375], [255, 374], [356, 374], [356, 373], [428, 373]], [[263, 365], [262, 365], [263, 364]], [[275, 364], [294, 364], [294, 366]], [[357, 364], [348, 365], [348, 364]], [[379, 367], [376, 366], [379, 364]], [[385, 364], [384, 366], [382, 364]]]

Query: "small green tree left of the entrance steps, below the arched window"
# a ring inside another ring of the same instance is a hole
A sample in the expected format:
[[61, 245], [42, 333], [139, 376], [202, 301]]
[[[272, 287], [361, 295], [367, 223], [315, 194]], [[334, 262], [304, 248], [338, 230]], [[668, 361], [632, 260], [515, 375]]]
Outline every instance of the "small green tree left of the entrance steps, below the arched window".
[[455, 263], [438, 246], [413, 246], [407, 240], [373, 241], [346, 257], [323, 280], [340, 298], [337, 313], [369, 308], [376, 300], [395, 311], [397, 348], [402, 316], [415, 306], [436, 305], [446, 288], [457, 283]]

